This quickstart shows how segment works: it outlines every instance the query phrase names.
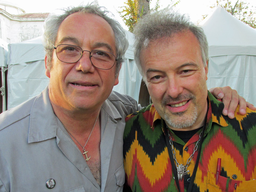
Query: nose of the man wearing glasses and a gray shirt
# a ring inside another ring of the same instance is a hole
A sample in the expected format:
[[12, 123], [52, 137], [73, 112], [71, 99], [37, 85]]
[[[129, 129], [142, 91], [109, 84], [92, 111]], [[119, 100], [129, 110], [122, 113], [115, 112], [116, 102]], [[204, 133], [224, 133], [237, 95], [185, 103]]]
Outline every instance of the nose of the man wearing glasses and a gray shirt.
[[76, 70], [81, 70], [84, 73], [94, 70], [93, 64], [90, 60], [90, 51], [82, 51]]

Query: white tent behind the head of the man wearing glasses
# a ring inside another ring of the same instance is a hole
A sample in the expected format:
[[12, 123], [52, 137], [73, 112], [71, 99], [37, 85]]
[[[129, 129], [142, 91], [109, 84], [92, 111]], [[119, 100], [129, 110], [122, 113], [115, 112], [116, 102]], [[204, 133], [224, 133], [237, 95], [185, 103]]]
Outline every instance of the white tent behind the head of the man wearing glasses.
[[[119, 84], [113, 90], [139, 100], [142, 77], [134, 63], [133, 34], [126, 32], [129, 47], [119, 73]], [[45, 75], [44, 48], [41, 37], [17, 44], [9, 44], [8, 109], [38, 95], [48, 85]]]

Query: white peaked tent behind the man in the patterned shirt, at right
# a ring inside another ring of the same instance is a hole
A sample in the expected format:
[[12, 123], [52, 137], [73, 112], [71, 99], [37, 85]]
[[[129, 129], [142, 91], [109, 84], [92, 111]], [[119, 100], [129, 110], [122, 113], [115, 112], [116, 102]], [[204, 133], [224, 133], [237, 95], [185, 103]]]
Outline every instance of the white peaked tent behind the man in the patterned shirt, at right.
[[202, 28], [209, 43], [208, 88], [230, 86], [256, 105], [256, 30], [222, 7]]

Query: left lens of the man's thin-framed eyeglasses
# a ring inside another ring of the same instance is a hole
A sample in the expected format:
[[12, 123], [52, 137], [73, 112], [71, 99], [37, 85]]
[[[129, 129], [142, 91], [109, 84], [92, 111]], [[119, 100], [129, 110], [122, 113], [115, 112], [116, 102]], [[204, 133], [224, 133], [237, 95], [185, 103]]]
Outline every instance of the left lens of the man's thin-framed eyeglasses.
[[65, 63], [76, 63], [81, 58], [82, 49], [74, 45], [61, 44], [56, 48], [58, 59]]

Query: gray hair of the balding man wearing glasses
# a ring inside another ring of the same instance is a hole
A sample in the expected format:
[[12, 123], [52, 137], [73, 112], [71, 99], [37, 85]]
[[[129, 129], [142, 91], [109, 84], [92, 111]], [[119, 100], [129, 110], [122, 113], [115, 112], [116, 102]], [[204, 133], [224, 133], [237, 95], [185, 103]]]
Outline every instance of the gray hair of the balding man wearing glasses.
[[115, 44], [116, 44], [116, 77], [121, 68], [122, 62], [124, 61], [125, 51], [128, 48], [128, 40], [126, 38], [125, 30], [122, 28], [120, 23], [117, 20], [112, 19], [110, 16], [113, 14], [106, 10], [105, 7], [99, 6], [97, 3], [93, 2], [87, 4], [86, 6], [77, 6], [77, 7], [68, 7], [67, 9], [63, 9], [63, 15], [50, 15], [44, 22], [44, 50], [47, 55], [47, 67], [50, 70], [52, 67], [52, 51], [53, 45], [55, 44], [55, 40], [57, 38], [57, 33], [59, 26], [62, 21], [68, 17], [69, 15], [82, 12], [82, 13], [90, 13], [94, 15], [98, 15], [105, 19], [108, 24], [113, 29], [115, 35]]

